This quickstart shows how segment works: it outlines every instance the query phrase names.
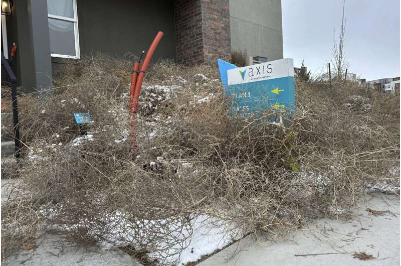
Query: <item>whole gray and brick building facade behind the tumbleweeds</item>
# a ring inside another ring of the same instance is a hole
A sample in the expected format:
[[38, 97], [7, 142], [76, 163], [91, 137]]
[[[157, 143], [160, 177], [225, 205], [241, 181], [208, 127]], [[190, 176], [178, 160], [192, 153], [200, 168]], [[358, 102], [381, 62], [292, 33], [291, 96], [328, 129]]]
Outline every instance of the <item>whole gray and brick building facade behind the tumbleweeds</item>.
[[[280, 0], [13, 0], [2, 15], [2, 52], [18, 46], [14, 72], [24, 91], [52, 86], [60, 58], [147, 50], [184, 64], [227, 61], [232, 50], [283, 58]], [[5, 24], [5, 25], [4, 25]], [[7, 33], [6, 33], [7, 31]], [[4, 45], [7, 44], [7, 45]], [[6, 56], [7, 57], [7, 56]], [[3, 75], [2, 75], [3, 80]]]

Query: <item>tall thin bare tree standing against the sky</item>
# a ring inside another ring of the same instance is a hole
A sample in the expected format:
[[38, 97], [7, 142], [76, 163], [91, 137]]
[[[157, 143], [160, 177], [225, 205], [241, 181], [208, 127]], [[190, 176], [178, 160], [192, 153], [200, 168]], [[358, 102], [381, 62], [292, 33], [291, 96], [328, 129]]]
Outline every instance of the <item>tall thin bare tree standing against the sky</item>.
[[333, 64], [337, 80], [342, 79], [345, 69], [348, 68], [349, 66], [348, 62], [345, 60], [345, 52], [344, 52], [345, 25], [347, 22], [347, 19], [344, 18], [344, 8], [345, 8], [345, 0], [342, 3], [341, 29], [338, 34], [338, 41], [335, 38], [336, 37], [335, 28], [333, 30], [333, 49], [331, 51], [333, 59], [331, 60], [331, 63]]

